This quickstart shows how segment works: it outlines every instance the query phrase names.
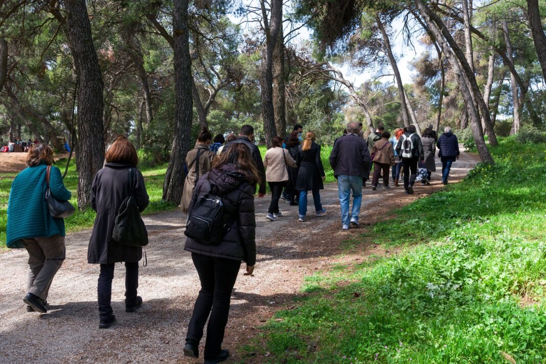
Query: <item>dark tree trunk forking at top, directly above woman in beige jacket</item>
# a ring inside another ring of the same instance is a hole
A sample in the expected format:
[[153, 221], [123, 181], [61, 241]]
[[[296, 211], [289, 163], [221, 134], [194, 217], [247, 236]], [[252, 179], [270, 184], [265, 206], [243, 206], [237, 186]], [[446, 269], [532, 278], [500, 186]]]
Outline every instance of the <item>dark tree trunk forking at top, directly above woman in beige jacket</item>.
[[273, 50], [282, 27], [282, 0], [271, 0], [271, 19], [268, 21], [265, 0], [261, 0], [262, 16], [265, 27], [265, 44], [262, 47], [262, 69], [260, 86], [262, 87], [262, 118], [264, 121], [265, 142], [268, 148], [277, 136], [275, 127], [275, 108], [273, 106]]

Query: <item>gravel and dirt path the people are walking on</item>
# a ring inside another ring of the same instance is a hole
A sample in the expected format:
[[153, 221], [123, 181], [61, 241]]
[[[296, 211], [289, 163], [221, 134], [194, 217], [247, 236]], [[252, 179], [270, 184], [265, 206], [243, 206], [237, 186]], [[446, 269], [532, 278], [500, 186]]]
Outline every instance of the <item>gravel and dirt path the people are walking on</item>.
[[[454, 164], [454, 182], [473, 168], [477, 157], [461, 154]], [[440, 169], [437, 169], [440, 170]], [[363, 190], [361, 223], [373, 223], [367, 216], [378, 201], [388, 208], [403, 206], [420, 196], [442, 188], [440, 172], [432, 175], [431, 186], [415, 188], [407, 196], [403, 188], [390, 190], [370, 187]], [[224, 346], [238, 360], [236, 349], [258, 333], [258, 327], [298, 294], [304, 276], [328, 268], [340, 260], [360, 259], [363, 254], [383, 253], [381, 247], [359, 247], [343, 258], [340, 243], [365, 231], [366, 225], [346, 232], [340, 230], [337, 186], [322, 191], [327, 216], [307, 214], [299, 223], [296, 206], [282, 204], [283, 217], [265, 219], [269, 196], [256, 199], [258, 261], [253, 277], [241, 275], [235, 284]], [[310, 210], [312, 202], [309, 201]], [[385, 210], [385, 212], [387, 212]], [[47, 314], [27, 313], [22, 297], [26, 294], [24, 249], [0, 255], [0, 362], [1, 363], [194, 363], [182, 355], [187, 324], [199, 290], [191, 257], [183, 250], [183, 222], [179, 212], [145, 218], [150, 244], [148, 266], [140, 268], [139, 295], [143, 307], [136, 313], [124, 312], [124, 267], [116, 265], [112, 285], [112, 307], [118, 323], [108, 330], [98, 329], [96, 284], [99, 267], [87, 264], [90, 231], [66, 238], [67, 259], [52, 284]], [[244, 269], [244, 264], [242, 265]], [[204, 341], [203, 341], [204, 342]], [[203, 347], [201, 347], [202, 353]], [[256, 357], [253, 361], [259, 362]], [[200, 361], [202, 362], [202, 361]]]

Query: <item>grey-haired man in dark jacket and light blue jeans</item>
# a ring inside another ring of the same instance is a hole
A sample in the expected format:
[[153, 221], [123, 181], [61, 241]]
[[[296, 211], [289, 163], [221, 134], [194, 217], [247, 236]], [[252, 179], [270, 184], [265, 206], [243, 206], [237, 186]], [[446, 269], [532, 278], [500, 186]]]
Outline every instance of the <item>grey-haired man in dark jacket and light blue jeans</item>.
[[[370, 152], [366, 141], [359, 136], [357, 123], [347, 124], [347, 135], [336, 139], [329, 160], [334, 176], [337, 178], [342, 229], [347, 230], [350, 224], [359, 225], [363, 180], [369, 175], [371, 163]], [[353, 208], [349, 216], [351, 192]]]

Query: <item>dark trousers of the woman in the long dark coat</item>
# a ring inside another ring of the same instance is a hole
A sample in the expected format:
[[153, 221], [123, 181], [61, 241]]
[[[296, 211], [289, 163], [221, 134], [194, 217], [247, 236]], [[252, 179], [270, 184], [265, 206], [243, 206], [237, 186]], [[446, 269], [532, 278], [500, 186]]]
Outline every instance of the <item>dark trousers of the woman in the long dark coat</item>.
[[[99, 318], [108, 320], [114, 316], [112, 311], [112, 279], [114, 279], [114, 267], [112, 264], [101, 264], [97, 294], [99, 301]], [[136, 303], [136, 289], [138, 289], [138, 262], [125, 263], [125, 306], [133, 306]]]

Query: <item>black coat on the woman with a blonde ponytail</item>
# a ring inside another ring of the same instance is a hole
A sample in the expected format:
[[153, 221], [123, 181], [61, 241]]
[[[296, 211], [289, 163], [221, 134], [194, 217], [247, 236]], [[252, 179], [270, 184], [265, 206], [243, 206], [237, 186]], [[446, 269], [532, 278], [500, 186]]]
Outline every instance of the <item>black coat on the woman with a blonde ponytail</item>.
[[308, 151], [302, 150], [303, 145], [298, 148], [296, 163], [300, 168], [296, 189], [299, 191], [312, 191], [313, 189], [324, 189], [322, 177], [324, 167], [321, 160], [321, 146], [313, 142]]

